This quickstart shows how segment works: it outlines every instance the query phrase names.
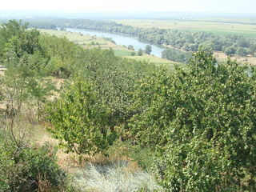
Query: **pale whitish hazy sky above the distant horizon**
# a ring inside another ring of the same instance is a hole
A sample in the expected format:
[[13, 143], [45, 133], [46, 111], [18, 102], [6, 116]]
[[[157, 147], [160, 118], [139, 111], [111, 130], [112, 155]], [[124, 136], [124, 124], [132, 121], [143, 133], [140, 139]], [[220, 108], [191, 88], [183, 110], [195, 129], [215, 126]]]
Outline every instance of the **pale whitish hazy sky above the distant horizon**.
[[256, 0], [2, 0], [0, 10], [256, 13]]

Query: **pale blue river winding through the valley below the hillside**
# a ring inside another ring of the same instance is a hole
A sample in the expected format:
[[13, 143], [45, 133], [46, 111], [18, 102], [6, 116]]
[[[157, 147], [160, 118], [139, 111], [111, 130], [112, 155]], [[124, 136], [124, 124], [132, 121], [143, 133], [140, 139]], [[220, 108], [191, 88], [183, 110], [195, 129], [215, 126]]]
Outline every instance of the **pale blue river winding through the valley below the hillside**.
[[140, 48], [142, 50], [145, 50], [146, 45], [150, 45], [152, 47], [152, 52], [154, 56], [161, 58], [162, 56], [162, 51], [164, 50], [161, 46], [155, 46], [150, 43], [145, 43], [145, 42], [140, 42], [138, 41], [138, 38], [132, 37], [126, 34], [112, 34], [112, 33], [107, 33], [107, 32], [102, 32], [98, 30], [80, 30], [80, 29], [74, 29], [74, 28], [67, 28], [67, 31], [70, 32], [77, 32], [81, 34], [90, 34], [90, 35], [95, 35], [100, 38], [112, 38], [116, 44], [120, 46], [129, 46], [132, 45], [134, 46], [134, 50], [138, 51]]

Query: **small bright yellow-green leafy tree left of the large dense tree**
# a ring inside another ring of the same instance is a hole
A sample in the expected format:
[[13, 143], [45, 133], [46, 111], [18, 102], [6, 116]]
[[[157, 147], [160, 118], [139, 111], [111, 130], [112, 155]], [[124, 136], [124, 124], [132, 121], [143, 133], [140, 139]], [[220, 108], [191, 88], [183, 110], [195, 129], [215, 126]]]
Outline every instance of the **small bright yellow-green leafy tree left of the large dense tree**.
[[106, 124], [109, 112], [90, 82], [74, 82], [48, 111], [51, 131], [68, 152], [95, 154], [114, 141], [115, 133]]

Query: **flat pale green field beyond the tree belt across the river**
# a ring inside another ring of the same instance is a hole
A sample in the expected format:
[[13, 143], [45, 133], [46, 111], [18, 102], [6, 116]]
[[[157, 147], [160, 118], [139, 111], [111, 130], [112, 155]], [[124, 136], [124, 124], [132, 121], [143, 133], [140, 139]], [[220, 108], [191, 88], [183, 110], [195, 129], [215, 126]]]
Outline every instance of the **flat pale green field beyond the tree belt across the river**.
[[[214, 34], [238, 34], [256, 38], [256, 23], [248, 24], [248, 22], [218, 22], [213, 21], [172, 21], [172, 20], [114, 20], [128, 26], [136, 26], [142, 28], [159, 28], [169, 30], [189, 30], [192, 32], [206, 31]], [[221, 20], [220, 20], [221, 21]]]

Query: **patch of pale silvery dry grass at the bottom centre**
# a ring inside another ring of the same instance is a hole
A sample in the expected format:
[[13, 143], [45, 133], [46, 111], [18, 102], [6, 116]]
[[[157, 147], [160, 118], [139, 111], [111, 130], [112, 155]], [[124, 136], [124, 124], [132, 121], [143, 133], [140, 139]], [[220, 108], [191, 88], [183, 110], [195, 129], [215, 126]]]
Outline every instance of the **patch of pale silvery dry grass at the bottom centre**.
[[151, 174], [142, 170], [130, 172], [127, 166], [127, 162], [105, 166], [89, 164], [85, 169], [77, 170], [75, 180], [82, 191], [88, 192], [162, 191]]

